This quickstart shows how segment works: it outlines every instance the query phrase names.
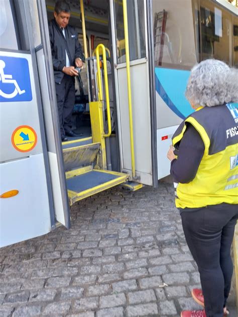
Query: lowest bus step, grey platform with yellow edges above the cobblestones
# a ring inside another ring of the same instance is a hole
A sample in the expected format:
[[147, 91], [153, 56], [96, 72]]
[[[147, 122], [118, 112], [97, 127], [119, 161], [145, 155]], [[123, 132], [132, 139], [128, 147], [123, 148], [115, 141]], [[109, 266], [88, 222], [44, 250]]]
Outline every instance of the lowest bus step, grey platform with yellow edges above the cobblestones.
[[66, 172], [70, 206], [83, 198], [125, 183], [128, 178], [128, 174], [94, 170], [92, 166]]

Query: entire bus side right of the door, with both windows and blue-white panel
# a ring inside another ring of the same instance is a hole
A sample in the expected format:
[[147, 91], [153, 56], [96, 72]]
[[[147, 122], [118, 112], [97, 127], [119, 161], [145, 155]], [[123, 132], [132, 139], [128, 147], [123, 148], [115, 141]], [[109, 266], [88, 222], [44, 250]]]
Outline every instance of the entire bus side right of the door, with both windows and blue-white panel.
[[158, 178], [178, 124], [193, 110], [184, 96], [190, 69], [208, 58], [238, 66], [238, 9], [226, 1], [152, 1]]

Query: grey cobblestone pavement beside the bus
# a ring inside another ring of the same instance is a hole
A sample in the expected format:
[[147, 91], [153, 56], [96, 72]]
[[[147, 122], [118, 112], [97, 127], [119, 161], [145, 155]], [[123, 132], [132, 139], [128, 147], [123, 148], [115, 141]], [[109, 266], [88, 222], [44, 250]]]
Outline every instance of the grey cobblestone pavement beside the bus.
[[199, 275], [173, 195], [170, 183], [134, 193], [113, 188], [75, 204], [70, 230], [1, 249], [0, 316], [162, 317], [200, 309], [190, 296]]

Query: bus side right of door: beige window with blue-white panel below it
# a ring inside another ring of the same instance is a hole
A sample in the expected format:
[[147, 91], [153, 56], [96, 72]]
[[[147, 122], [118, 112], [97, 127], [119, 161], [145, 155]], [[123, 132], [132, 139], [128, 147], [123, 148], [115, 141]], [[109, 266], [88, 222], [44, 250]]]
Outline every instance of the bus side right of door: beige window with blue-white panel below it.
[[[157, 115], [158, 179], [168, 176], [171, 137], [192, 112], [184, 96], [189, 69], [197, 61], [192, 1], [152, 0]], [[186, 23], [184, 23], [186, 21]]]

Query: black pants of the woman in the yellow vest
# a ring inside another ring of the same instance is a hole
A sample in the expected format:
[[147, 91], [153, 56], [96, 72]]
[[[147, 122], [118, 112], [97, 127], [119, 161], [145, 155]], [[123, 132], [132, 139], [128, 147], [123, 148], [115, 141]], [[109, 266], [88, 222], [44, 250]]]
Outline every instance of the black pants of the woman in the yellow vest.
[[238, 205], [180, 211], [185, 238], [200, 273], [206, 316], [222, 317], [233, 273], [230, 247]]

